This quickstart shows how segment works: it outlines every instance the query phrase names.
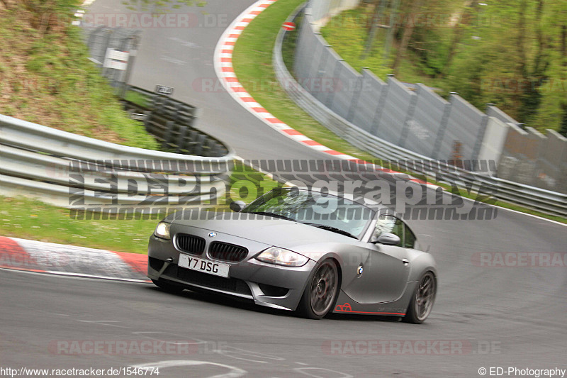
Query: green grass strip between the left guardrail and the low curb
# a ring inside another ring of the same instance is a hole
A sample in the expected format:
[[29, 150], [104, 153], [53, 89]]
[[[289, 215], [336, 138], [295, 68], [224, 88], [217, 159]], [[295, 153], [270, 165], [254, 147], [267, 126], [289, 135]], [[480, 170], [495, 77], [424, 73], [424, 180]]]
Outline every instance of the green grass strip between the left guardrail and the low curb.
[[[203, 204], [202, 210], [230, 211], [230, 201], [249, 203], [275, 187], [281, 184], [249, 167], [238, 167], [224, 201]], [[69, 209], [23, 196], [0, 196], [0, 206], [0, 235], [117, 252], [147, 253], [147, 240], [161, 220], [157, 216], [105, 219], [101, 214], [73, 217]]]

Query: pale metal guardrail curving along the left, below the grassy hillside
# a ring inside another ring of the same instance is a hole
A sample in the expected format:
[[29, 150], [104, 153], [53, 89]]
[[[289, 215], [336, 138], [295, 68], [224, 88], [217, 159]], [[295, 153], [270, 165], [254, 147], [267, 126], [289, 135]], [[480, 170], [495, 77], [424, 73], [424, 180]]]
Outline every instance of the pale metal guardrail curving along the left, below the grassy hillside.
[[233, 158], [116, 145], [0, 115], [0, 193], [69, 209], [151, 213], [214, 201], [225, 192]]

